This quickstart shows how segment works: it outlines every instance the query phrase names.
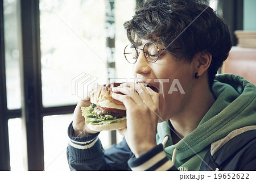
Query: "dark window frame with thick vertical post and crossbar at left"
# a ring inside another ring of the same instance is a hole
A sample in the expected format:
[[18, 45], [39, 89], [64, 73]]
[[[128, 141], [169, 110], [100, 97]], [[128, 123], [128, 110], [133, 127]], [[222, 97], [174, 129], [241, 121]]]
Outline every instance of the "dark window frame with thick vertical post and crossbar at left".
[[[3, 0], [0, 0], [3, 5]], [[22, 109], [8, 110], [5, 70], [5, 40], [3, 6], [0, 7], [0, 170], [10, 170], [8, 120], [22, 118], [22, 140], [26, 153], [23, 157], [25, 170], [44, 170], [43, 117], [73, 113], [76, 105], [43, 107], [40, 9], [39, 0], [18, 1], [20, 9], [20, 86]], [[112, 44], [112, 45], [111, 45]], [[112, 47], [113, 43], [109, 43]], [[72, 120], [71, 120], [72, 121]], [[110, 144], [116, 143], [116, 132], [110, 134]]]

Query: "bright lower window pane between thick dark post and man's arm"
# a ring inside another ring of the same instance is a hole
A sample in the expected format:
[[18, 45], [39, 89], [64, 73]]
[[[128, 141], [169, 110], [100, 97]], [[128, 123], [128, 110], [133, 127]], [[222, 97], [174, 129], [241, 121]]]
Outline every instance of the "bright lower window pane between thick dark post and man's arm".
[[[69, 170], [67, 161], [68, 125], [73, 119], [72, 114], [43, 117], [44, 135], [44, 169]], [[109, 132], [101, 132], [102, 146], [109, 148]]]

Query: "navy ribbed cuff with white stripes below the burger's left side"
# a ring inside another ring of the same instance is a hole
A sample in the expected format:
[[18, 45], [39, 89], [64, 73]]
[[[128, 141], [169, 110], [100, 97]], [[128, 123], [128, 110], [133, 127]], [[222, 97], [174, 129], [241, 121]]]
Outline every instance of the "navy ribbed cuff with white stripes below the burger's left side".
[[103, 148], [100, 139], [98, 139], [99, 133], [90, 134], [89, 136], [75, 137], [71, 123], [68, 127], [68, 149], [72, 157], [78, 159], [90, 159], [101, 155], [103, 153]]

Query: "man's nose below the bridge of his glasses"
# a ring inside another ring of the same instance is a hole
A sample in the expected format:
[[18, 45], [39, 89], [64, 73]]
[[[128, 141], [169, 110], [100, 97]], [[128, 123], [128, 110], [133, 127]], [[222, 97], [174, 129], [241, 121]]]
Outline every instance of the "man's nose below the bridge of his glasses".
[[143, 52], [139, 54], [137, 62], [134, 64], [133, 71], [135, 74], [150, 73], [150, 62], [147, 61]]

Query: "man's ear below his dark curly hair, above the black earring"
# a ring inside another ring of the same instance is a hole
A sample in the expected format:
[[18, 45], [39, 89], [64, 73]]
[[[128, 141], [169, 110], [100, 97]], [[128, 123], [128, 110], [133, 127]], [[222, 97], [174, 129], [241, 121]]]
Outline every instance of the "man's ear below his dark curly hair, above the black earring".
[[212, 62], [212, 54], [207, 52], [196, 53], [193, 58], [193, 63], [195, 67], [195, 73], [201, 76], [208, 70], [210, 63]]

